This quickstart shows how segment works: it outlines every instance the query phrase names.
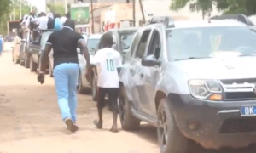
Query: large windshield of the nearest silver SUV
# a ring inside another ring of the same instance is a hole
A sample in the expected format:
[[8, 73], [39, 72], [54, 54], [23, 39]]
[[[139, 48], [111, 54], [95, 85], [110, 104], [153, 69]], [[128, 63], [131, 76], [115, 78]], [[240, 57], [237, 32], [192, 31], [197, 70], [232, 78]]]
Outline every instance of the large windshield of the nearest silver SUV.
[[251, 26], [218, 26], [167, 31], [170, 60], [256, 55], [256, 30]]

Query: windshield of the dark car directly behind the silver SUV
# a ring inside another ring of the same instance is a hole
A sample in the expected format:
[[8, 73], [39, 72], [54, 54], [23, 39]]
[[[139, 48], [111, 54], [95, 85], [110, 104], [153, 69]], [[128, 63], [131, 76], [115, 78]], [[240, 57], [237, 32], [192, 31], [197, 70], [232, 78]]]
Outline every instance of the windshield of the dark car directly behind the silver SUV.
[[120, 33], [122, 50], [127, 50], [131, 47], [131, 42], [133, 40], [135, 32], [136, 31], [125, 31]]

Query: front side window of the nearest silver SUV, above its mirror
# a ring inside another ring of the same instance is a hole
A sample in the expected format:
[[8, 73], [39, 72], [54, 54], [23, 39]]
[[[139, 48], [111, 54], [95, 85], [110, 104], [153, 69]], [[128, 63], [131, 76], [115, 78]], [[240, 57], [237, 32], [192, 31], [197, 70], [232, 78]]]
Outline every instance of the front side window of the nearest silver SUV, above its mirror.
[[147, 55], [154, 54], [155, 59], [159, 59], [160, 50], [161, 50], [160, 32], [157, 30], [154, 30], [148, 46]]

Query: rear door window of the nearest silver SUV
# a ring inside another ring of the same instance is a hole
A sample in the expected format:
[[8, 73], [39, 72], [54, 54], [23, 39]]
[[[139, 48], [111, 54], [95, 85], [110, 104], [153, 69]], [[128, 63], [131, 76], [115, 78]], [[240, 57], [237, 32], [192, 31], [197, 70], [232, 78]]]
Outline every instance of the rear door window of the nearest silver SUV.
[[151, 32], [151, 29], [143, 31], [143, 36], [141, 37], [141, 40], [138, 44], [137, 52], [136, 52], [136, 57], [138, 59], [142, 59], [144, 56], [144, 53], [147, 48], [147, 42], [148, 42], [148, 37], [149, 37], [150, 32]]

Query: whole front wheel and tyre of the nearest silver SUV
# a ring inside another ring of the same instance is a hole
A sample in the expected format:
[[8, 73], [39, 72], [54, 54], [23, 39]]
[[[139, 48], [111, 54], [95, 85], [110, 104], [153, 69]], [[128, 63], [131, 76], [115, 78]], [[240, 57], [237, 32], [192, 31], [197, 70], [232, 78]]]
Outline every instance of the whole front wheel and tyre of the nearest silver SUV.
[[[163, 137], [167, 136], [166, 139]], [[188, 141], [179, 131], [169, 101], [161, 99], [157, 110], [157, 137], [160, 153], [185, 153]]]

